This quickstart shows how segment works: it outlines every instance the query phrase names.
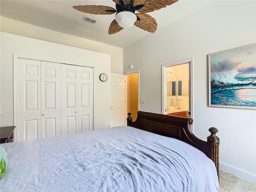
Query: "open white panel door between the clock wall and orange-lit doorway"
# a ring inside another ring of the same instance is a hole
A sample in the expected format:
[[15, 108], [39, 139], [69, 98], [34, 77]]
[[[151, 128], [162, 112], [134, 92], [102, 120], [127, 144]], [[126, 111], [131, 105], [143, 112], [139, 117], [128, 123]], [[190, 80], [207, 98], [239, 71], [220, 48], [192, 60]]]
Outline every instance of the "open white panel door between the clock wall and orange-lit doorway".
[[126, 125], [125, 75], [111, 73], [111, 127]]

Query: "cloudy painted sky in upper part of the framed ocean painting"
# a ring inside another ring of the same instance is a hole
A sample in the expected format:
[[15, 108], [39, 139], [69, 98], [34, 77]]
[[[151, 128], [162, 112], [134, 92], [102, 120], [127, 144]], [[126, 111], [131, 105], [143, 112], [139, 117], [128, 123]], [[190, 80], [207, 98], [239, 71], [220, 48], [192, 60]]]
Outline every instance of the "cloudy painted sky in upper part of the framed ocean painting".
[[211, 81], [235, 83], [237, 76], [256, 76], [256, 46], [210, 56]]

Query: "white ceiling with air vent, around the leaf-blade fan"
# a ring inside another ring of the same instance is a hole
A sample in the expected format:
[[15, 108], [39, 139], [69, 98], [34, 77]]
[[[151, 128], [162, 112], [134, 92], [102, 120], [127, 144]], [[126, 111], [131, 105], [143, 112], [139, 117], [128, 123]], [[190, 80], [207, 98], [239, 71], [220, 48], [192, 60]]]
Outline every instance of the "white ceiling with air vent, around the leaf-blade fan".
[[[207, 0], [178, 0], [174, 4], [148, 13], [156, 19], [157, 30], [195, 12], [209, 3]], [[124, 48], [151, 33], [136, 26], [109, 35], [108, 28], [115, 14], [94, 15], [73, 9], [76, 5], [106, 5], [116, 8], [112, 0], [0, 0], [1, 16], [48, 28], [58, 32]], [[95, 24], [84, 22], [88, 16]]]

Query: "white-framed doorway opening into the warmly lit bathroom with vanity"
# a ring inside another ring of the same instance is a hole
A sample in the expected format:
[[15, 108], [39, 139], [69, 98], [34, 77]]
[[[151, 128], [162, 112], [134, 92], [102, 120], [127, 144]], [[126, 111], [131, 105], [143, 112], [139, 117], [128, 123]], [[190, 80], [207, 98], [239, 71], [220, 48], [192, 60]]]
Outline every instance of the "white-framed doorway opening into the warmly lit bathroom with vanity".
[[192, 118], [192, 64], [189, 58], [162, 65], [162, 114]]

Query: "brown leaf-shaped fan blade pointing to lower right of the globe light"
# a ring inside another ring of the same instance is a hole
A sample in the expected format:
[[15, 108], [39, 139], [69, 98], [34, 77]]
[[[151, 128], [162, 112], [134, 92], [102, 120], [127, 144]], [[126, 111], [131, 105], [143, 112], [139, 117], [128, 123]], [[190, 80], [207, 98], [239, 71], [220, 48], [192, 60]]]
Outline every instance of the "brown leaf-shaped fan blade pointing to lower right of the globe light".
[[154, 33], [156, 31], [157, 23], [154, 18], [146, 13], [137, 13], [136, 16], [140, 18], [140, 20], [136, 20], [134, 23], [135, 26], [150, 33]]

